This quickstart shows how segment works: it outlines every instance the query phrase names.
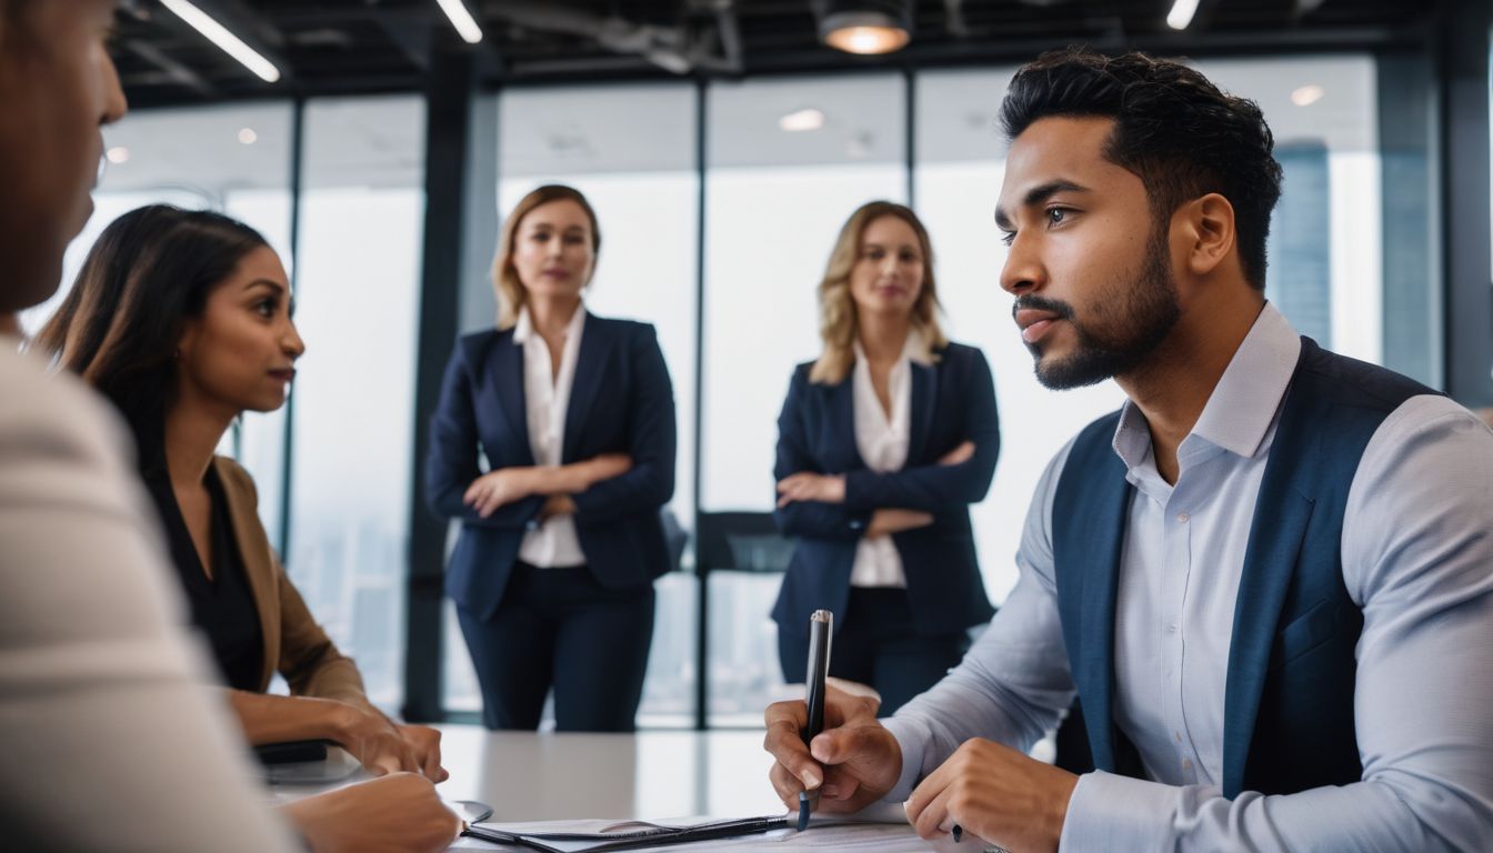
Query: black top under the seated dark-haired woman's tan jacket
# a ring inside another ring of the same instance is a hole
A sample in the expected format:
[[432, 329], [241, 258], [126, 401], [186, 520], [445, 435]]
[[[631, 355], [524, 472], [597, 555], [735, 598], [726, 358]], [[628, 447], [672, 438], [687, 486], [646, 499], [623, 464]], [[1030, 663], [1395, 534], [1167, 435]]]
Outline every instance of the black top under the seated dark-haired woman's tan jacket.
[[260, 672], [264, 666], [264, 633], [218, 474], [212, 466], [208, 468], [206, 486], [212, 503], [211, 578], [203, 571], [197, 547], [187, 530], [187, 520], [176, 503], [176, 493], [172, 491], [170, 475], [164, 466], [145, 471], [142, 475], [166, 527], [172, 563], [176, 565], [182, 590], [191, 604], [193, 624], [206, 635], [224, 684], [237, 690], [258, 692]]

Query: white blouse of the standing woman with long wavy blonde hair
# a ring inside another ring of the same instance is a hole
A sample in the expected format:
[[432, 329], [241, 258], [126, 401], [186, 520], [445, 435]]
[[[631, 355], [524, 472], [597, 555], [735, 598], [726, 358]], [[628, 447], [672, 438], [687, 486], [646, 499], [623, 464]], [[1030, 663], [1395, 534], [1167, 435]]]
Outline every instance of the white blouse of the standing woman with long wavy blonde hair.
[[[870, 381], [870, 363], [860, 341], [855, 347], [855, 367], [851, 370], [851, 391], [855, 411], [855, 448], [866, 468], [876, 474], [899, 471], [908, 462], [909, 424], [912, 423], [912, 362], [929, 365], [927, 344], [917, 330], [908, 332], [902, 357], [887, 375], [887, 391], [891, 397], [891, 417], [876, 399], [876, 387]], [[902, 571], [902, 554], [891, 536], [861, 538], [855, 545], [855, 562], [850, 571], [853, 587], [906, 587]]]

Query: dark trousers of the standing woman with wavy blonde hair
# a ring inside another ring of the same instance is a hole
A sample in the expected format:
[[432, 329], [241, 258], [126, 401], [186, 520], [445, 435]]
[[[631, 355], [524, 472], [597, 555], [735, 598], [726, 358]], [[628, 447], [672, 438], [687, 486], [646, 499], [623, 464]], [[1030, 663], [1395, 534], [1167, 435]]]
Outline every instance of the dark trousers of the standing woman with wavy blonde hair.
[[[891, 714], [954, 668], [969, 648], [969, 633], [918, 635], [906, 590], [851, 587], [839, 630], [830, 644], [830, 675], [870, 684], [881, 693], [879, 716]], [[805, 680], [809, 626], [778, 626], [778, 660], [790, 683]]]

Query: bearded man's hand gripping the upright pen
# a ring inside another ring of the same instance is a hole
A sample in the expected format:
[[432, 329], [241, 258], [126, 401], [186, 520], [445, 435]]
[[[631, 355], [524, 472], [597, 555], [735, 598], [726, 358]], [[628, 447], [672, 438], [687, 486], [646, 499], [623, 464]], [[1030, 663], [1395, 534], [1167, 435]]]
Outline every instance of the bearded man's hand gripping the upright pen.
[[824, 732], [811, 745], [799, 733], [808, 725], [808, 704], [776, 702], [767, 708], [763, 741], [776, 760], [767, 777], [790, 811], [799, 808], [800, 790], [820, 790], [820, 808], [847, 814], [876, 802], [902, 775], [902, 748], [881, 723], [875, 696], [855, 696], [835, 687], [826, 692]]

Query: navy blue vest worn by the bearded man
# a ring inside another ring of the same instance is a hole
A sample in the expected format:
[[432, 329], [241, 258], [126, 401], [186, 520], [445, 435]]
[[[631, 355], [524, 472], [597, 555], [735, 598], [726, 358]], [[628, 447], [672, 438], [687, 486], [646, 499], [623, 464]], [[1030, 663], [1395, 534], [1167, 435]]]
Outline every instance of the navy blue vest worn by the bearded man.
[[[1402, 402], [1436, 391], [1302, 338], [1235, 602], [1223, 795], [1294, 793], [1362, 777], [1353, 725], [1363, 614], [1342, 583], [1342, 514], [1359, 459]], [[1094, 766], [1142, 777], [1114, 723], [1115, 589], [1133, 488], [1118, 412], [1079, 433], [1053, 502], [1057, 607]], [[1248, 496], [1241, 496], [1248, 499]]]

